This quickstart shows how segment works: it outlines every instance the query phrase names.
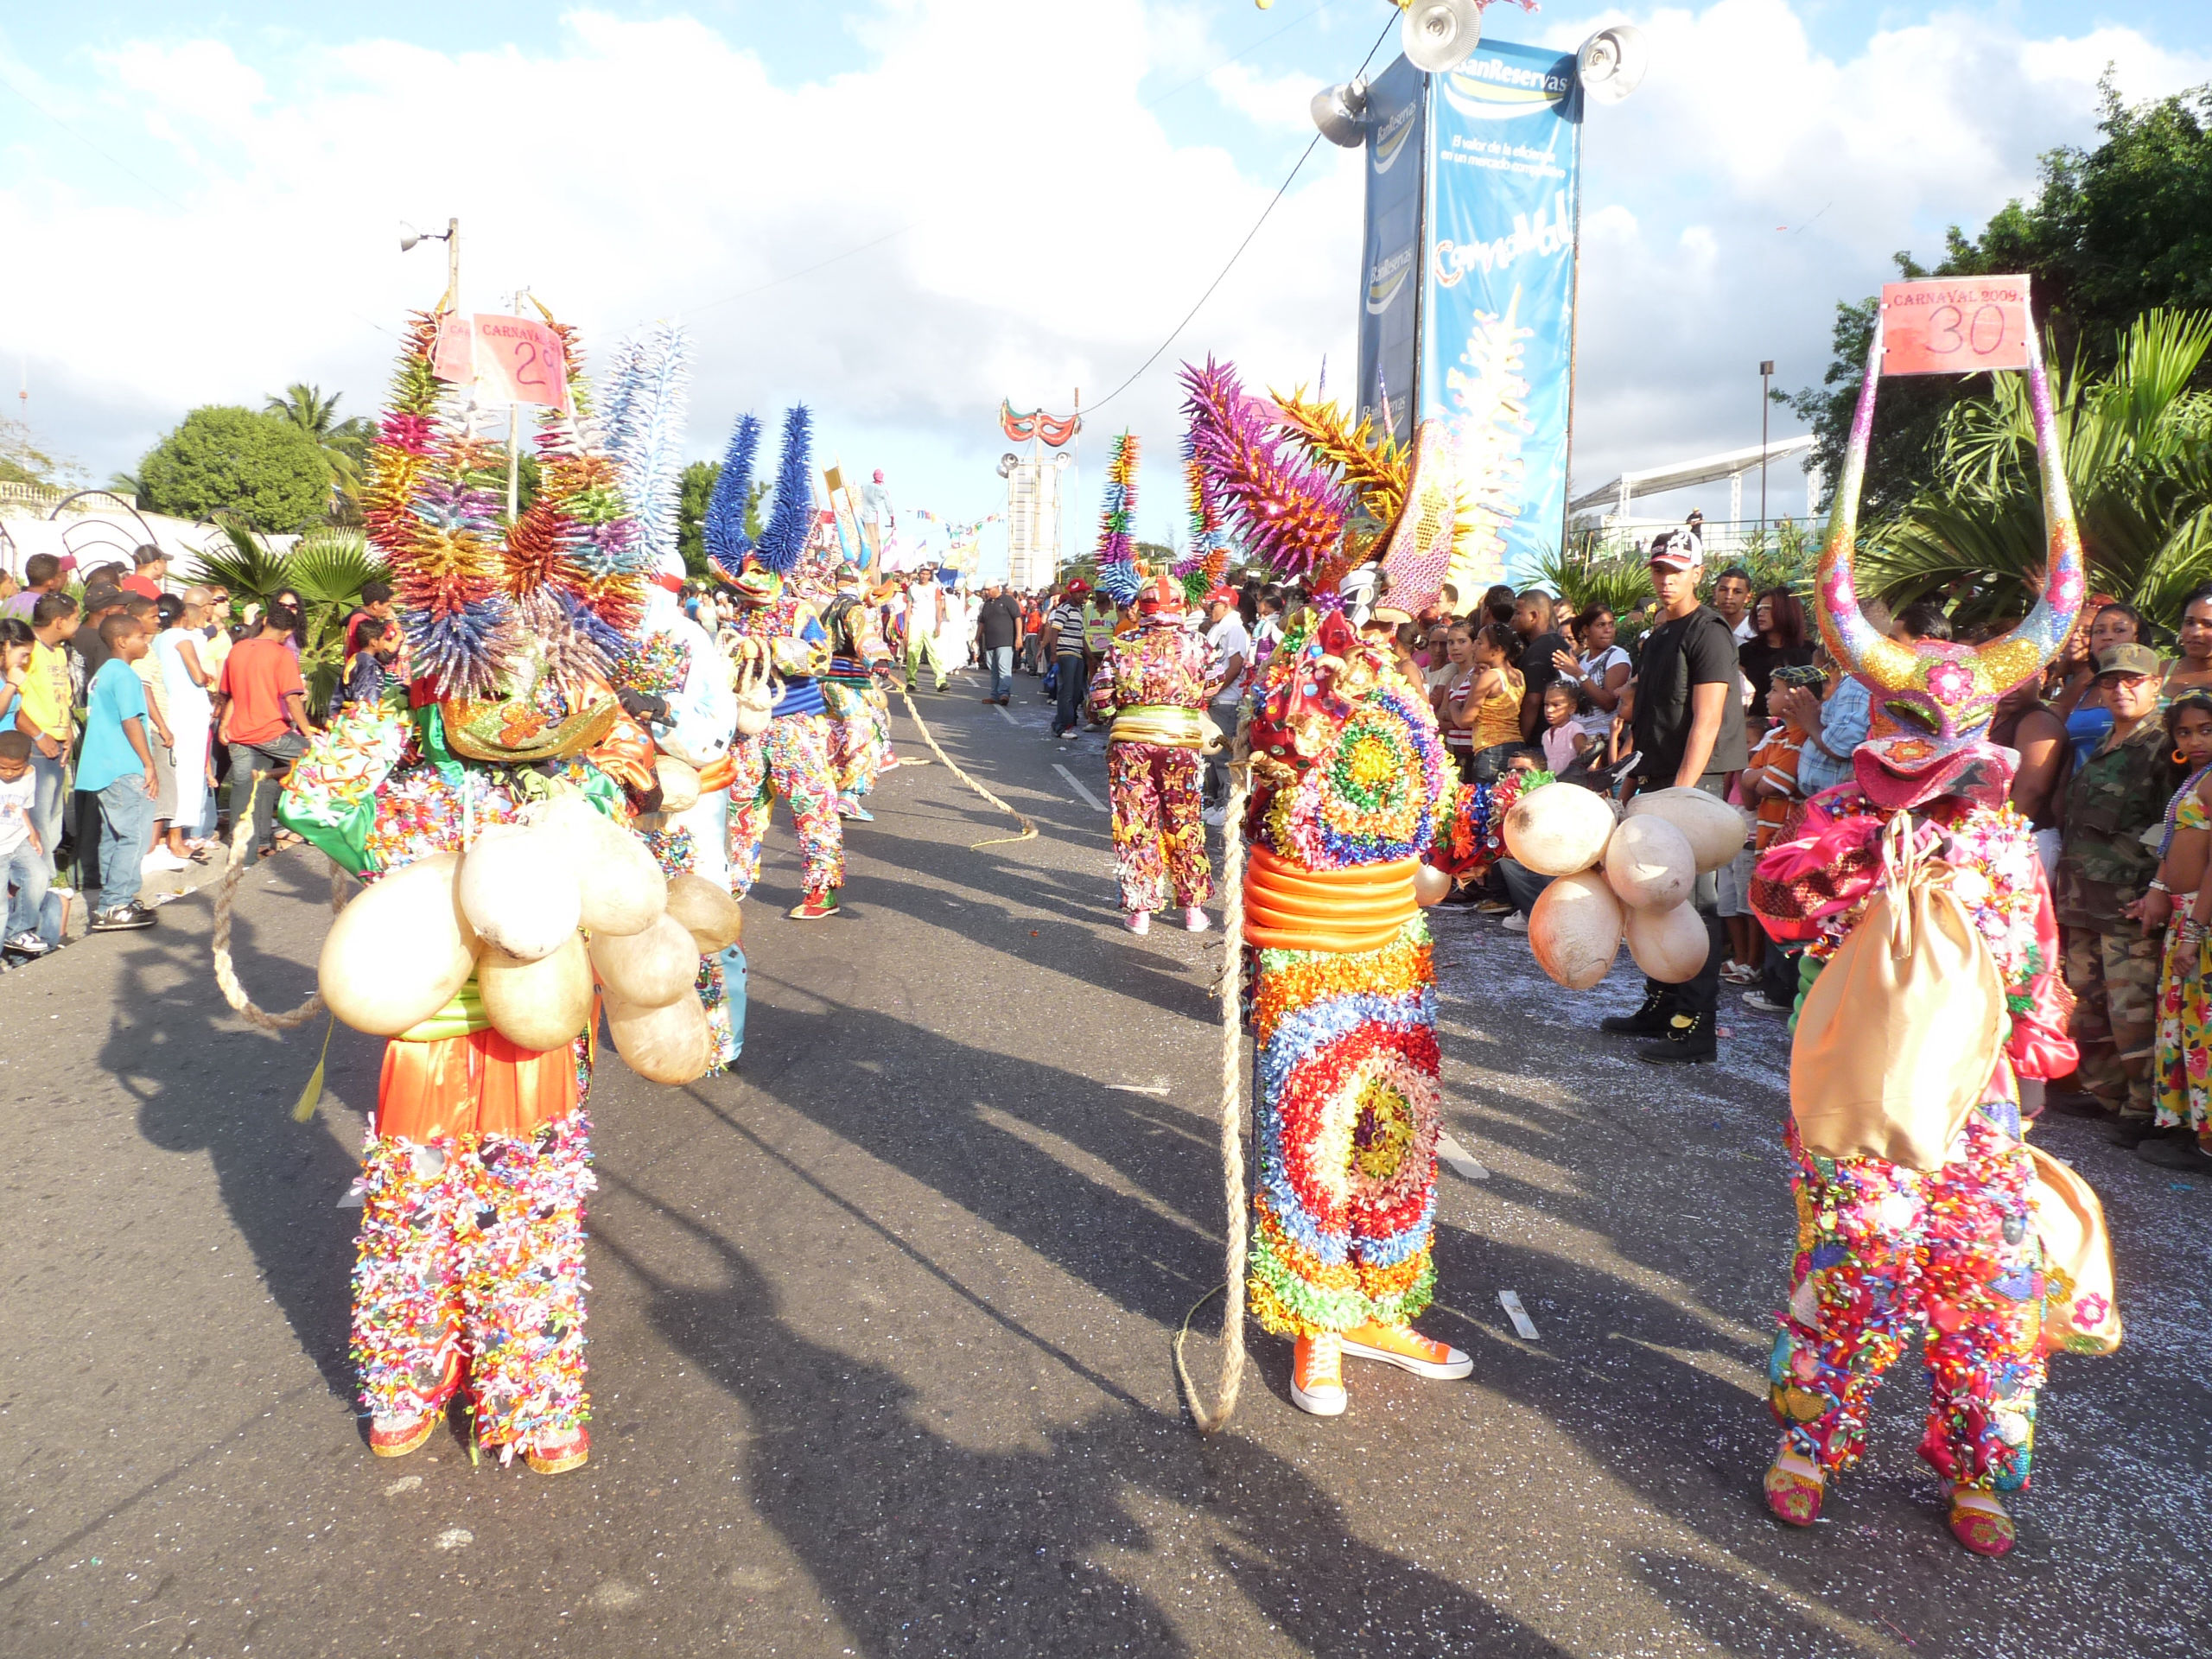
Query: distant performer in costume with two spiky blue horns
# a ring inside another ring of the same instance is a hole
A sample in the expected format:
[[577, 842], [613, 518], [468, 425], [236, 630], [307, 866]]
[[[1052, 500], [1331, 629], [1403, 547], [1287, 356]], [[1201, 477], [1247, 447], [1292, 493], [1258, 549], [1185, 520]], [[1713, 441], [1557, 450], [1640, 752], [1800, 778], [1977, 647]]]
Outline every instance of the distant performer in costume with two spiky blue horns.
[[[805, 860], [805, 894], [790, 911], [794, 920], [838, 914], [845, 885], [845, 827], [836, 816], [836, 774], [830, 759], [830, 717], [821, 675], [830, 668], [830, 633], [801, 599], [787, 577], [814, 529], [807, 495], [807, 411], [794, 407], [783, 418], [783, 460], [776, 502], [759, 549], [743, 533], [743, 502], [750, 487], [750, 447], [734, 465], [750, 416], [739, 422], [732, 460], [723, 462], [708, 524], [721, 515], [719, 535], [708, 540], [717, 577], [737, 597], [737, 622], [723, 630], [723, 646], [737, 657], [765, 659], [781, 688], [770, 708], [768, 730], [739, 734], [730, 748], [730, 891], [752, 891], [761, 874], [761, 841], [774, 796], [783, 796]], [[728, 484], [728, 489], [726, 489]]]

